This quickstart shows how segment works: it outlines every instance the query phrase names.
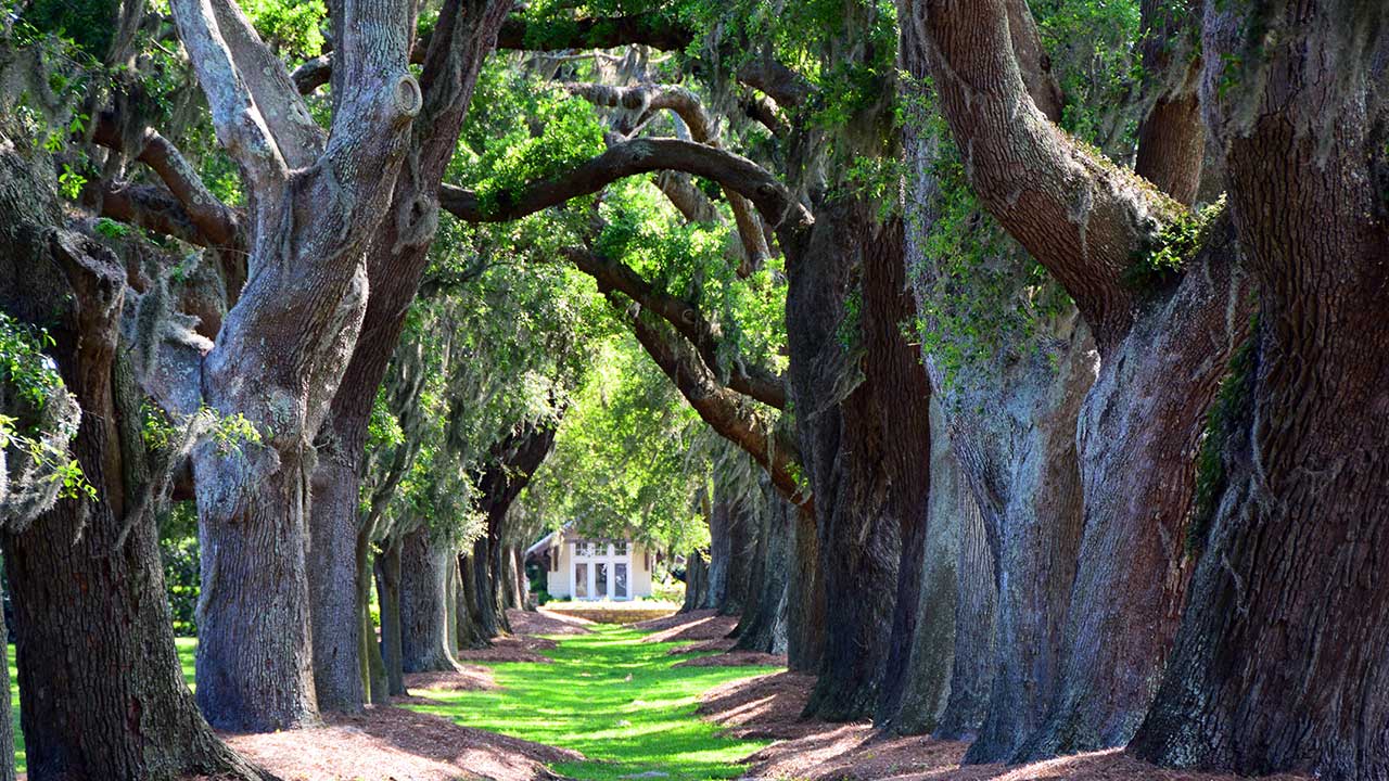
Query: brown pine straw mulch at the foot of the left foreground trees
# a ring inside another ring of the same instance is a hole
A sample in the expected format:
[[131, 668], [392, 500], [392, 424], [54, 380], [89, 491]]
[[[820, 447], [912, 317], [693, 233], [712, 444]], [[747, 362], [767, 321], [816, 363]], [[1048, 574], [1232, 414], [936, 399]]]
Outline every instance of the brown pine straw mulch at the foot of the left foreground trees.
[[535, 781], [578, 752], [532, 743], [401, 707], [331, 716], [314, 730], [222, 735], [242, 756], [285, 781]]

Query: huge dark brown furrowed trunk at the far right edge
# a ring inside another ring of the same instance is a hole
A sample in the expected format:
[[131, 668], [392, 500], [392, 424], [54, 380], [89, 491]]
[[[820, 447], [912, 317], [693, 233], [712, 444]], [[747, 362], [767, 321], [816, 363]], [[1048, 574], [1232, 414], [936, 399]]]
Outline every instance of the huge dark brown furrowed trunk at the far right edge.
[[[1132, 742], [1145, 759], [1389, 775], [1389, 171], [1370, 88], [1389, 60], [1385, 11], [1206, 11], [1203, 100], [1261, 313], [1222, 399], [1224, 491], [1196, 529], [1168, 674]], [[1257, 50], [1254, 24], [1271, 31]], [[1226, 96], [1242, 56], [1254, 65]]]

